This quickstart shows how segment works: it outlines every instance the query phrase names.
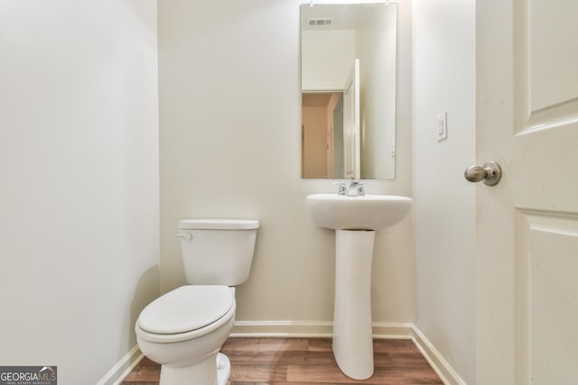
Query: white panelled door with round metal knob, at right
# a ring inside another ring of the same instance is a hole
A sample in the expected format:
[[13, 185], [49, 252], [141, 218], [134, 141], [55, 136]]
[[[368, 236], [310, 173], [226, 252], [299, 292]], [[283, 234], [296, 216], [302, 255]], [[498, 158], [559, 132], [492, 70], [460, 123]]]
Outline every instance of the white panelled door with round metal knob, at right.
[[578, 383], [578, 2], [477, 2], [476, 385]]

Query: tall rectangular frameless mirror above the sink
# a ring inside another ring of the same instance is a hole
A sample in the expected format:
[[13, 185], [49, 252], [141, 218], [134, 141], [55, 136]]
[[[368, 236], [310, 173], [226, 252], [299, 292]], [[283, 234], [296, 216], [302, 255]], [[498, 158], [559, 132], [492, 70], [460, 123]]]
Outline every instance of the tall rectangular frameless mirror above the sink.
[[394, 179], [396, 5], [301, 6], [302, 177]]

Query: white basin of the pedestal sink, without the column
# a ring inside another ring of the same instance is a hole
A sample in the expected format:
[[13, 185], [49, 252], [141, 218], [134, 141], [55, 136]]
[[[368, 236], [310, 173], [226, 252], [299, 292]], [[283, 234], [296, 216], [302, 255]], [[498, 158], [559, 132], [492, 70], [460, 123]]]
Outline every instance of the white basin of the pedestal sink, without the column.
[[312, 194], [305, 199], [315, 225], [334, 230], [381, 230], [409, 212], [412, 199], [393, 195], [360, 197]]

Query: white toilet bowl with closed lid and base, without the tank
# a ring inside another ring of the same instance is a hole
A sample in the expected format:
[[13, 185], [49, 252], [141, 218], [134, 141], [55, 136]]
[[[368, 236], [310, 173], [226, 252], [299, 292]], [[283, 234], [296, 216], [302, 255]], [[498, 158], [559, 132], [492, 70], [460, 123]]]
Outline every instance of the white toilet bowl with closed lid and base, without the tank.
[[[227, 379], [219, 382], [217, 356], [230, 334], [235, 309], [233, 288], [204, 285], [182, 286], [145, 307], [135, 325], [137, 344], [163, 365], [160, 383], [224, 385]], [[228, 359], [220, 360], [221, 370], [230, 371]], [[193, 378], [197, 380], [191, 382]]]

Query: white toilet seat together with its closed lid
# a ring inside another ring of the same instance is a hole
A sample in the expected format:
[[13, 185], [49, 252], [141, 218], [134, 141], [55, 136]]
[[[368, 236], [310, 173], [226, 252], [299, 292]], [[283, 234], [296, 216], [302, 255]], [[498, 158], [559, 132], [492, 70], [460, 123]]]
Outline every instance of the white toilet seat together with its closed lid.
[[228, 286], [185, 285], [156, 298], [136, 321], [144, 340], [172, 343], [206, 335], [235, 316], [235, 297]]

